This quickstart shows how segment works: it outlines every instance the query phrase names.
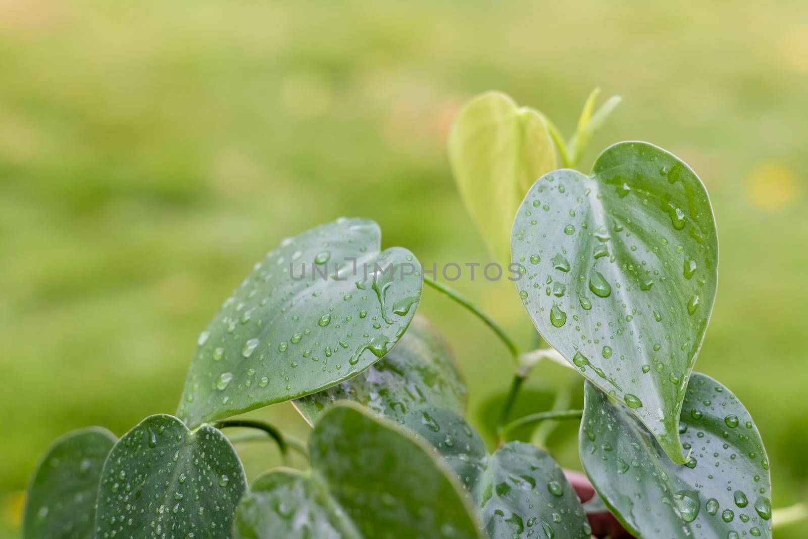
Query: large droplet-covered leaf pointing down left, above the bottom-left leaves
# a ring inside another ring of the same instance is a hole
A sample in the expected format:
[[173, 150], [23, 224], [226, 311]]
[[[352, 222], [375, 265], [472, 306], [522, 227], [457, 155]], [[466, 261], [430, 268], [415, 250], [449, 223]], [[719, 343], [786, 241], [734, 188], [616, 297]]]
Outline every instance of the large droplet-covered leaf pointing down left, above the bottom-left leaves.
[[200, 335], [178, 415], [195, 427], [300, 398], [385, 356], [415, 315], [423, 278], [410, 251], [380, 246], [378, 225], [364, 219], [284, 240]]

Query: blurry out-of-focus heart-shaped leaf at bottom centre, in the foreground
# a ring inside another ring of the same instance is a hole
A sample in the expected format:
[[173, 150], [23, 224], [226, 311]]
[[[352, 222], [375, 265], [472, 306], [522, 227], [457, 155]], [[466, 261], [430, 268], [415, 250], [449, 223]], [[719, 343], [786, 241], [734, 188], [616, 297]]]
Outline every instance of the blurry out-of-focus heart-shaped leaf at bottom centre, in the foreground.
[[318, 420], [312, 473], [272, 471], [239, 504], [235, 536], [482, 537], [462, 487], [401, 427], [353, 402]]

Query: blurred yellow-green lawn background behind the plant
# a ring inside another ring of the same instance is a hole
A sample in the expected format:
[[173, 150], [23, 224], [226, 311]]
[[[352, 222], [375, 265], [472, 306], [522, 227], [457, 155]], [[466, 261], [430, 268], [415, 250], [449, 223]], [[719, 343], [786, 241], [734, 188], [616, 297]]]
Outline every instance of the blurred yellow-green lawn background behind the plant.
[[[721, 266], [697, 370], [754, 415], [774, 505], [805, 499], [808, 3], [610, 4], [0, 0], [0, 529], [56, 436], [175, 411], [196, 336], [281, 238], [370, 217], [422, 261], [486, 262], [445, 142], [492, 88], [571, 133], [601, 86], [624, 102], [584, 169], [642, 139], [701, 175]], [[457, 288], [527, 346], [512, 284]], [[419, 312], [479, 424], [506, 351], [431, 289]], [[254, 415], [305, 436], [288, 404]]]

